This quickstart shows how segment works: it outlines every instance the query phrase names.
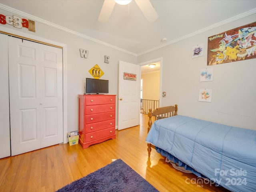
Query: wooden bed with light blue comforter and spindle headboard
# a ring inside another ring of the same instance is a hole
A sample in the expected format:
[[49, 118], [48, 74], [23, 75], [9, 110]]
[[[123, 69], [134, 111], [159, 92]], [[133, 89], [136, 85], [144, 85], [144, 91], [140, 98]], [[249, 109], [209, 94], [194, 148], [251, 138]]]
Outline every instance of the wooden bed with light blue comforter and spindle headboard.
[[181, 116], [177, 110], [177, 105], [149, 110], [148, 158], [155, 148], [167, 162], [199, 178], [233, 192], [255, 192], [256, 131]]

